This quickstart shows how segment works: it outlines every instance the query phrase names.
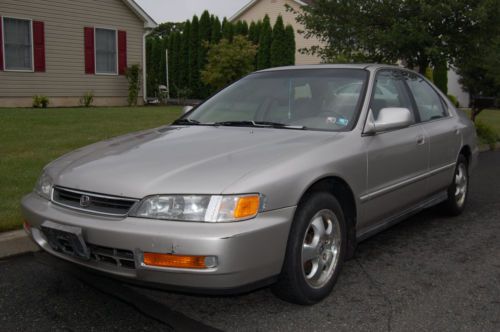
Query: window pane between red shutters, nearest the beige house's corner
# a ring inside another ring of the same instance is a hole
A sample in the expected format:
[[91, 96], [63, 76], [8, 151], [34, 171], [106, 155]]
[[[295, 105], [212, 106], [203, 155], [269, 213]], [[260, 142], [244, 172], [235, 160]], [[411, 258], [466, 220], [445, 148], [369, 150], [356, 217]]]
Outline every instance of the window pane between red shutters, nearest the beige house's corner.
[[116, 39], [116, 30], [95, 29], [95, 71], [97, 74], [117, 74]]

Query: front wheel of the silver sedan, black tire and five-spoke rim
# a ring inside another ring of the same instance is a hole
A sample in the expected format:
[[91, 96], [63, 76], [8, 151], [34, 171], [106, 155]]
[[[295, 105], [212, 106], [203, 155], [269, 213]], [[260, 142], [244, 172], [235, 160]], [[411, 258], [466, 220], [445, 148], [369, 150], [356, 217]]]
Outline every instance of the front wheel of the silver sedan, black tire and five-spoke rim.
[[337, 199], [326, 192], [308, 195], [297, 207], [285, 261], [272, 286], [279, 298], [302, 305], [327, 297], [342, 268], [346, 224]]

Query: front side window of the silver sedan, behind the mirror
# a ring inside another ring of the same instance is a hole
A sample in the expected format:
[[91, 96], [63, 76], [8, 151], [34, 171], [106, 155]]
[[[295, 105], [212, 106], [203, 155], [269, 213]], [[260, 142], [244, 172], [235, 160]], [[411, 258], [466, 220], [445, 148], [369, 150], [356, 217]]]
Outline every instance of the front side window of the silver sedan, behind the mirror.
[[[404, 86], [404, 77], [399, 71], [384, 70], [377, 74], [370, 107], [375, 119], [378, 118], [380, 110], [387, 107], [412, 110], [411, 101]], [[413, 115], [413, 112], [411, 114]]]

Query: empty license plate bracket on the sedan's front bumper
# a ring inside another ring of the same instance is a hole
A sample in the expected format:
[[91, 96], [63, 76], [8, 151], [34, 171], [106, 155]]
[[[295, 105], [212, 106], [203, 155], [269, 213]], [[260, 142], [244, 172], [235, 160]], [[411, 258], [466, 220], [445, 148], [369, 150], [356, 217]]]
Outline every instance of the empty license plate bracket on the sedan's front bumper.
[[90, 250], [83, 240], [81, 228], [45, 221], [41, 230], [53, 250], [84, 260], [90, 259]]

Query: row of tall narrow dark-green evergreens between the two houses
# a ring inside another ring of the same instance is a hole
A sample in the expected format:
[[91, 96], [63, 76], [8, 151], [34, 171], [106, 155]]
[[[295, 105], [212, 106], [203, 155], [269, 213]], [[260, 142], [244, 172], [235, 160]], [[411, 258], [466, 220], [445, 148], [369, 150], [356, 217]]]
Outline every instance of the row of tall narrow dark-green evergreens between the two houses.
[[[219, 44], [222, 38], [226, 44], [231, 44], [236, 36], [248, 37], [256, 49], [263, 51], [261, 69], [271, 66], [271, 47], [274, 44], [274, 65], [289, 65], [295, 63], [295, 35], [290, 26], [283, 27], [283, 22], [277, 22], [279, 33], [273, 36], [271, 22], [266, 17], [265, 23], [261, 20], [252, 22], [223, 23], [218, 17], [204, 11], [200, 18], [194, 16], [191, 20], [182, 23], [164, 23], [154, 30], [147, 39], [146, 66], [148, 96], [158, 96], [158, 86], [168, 85], [170, 96], [177, 98], [204, 99], [215, 92], [215, 87], [204, 83], [201, 71], [208, 66], [208, 50]], [[266, 26], [262, 36], [262, 27]], [[264, 47], [260, 47], [260, 41]], [[277, 39], [277, 41], [274, 41]], [[166, 82], [166, 57], [168, 49], [168, 84]], [[256, 68], [258, 57], [252, 60]]]

